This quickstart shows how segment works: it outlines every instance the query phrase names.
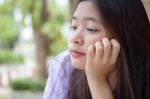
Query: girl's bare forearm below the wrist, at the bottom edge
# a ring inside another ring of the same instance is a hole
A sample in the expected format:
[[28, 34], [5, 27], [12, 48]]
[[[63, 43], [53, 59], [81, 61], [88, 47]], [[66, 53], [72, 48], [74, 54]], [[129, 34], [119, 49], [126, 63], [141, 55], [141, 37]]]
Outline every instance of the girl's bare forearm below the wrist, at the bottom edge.
[[107, 81], [88, 81], [93, 99], [114, 99], [112, 90]]

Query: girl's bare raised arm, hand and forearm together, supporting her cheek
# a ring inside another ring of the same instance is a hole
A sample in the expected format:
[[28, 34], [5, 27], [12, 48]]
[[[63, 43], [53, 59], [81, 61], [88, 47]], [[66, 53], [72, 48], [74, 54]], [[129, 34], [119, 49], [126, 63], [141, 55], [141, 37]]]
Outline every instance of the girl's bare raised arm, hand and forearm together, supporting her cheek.
[[85, 72], [93, 99], [114, 99], [107, 79], [116, 67], [119, 51], [119, 43], [107, 38], [96, 42], [95, 51], [93, 45], [88, 48]]

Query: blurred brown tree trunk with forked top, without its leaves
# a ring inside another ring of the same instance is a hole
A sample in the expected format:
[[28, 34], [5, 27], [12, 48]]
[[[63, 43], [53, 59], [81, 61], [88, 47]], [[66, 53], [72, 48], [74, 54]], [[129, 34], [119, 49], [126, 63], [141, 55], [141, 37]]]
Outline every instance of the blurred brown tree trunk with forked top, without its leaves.
[[[34, 7], [35, 3], [32, 2], [32, 6]], [[41, 21], [40, 24], [36, 23], [36, 16], [34, 15], [34, 9], [31, 10], [32, 13], [32, 22], [33, 22], [33, 30], [34, 30], [34, 37], [35, 37], [35, 44], [36, 44], [36, 61], [38, 64], [37, 68], [37, 77], [39, 78], [46, 78], [47, 77], [47, 68], [46, 68], [46, 59], [48, 56], [49, 51], [49, 43], [50, 38], [47, 35], [42, 33], [41, 25], [48, 21], [50, 13], [47, 10], [47, 0], [41, 0], [41, 11], [39, 11], [39, 20]], [[34, 19], [35, 18], [35, 19]]]

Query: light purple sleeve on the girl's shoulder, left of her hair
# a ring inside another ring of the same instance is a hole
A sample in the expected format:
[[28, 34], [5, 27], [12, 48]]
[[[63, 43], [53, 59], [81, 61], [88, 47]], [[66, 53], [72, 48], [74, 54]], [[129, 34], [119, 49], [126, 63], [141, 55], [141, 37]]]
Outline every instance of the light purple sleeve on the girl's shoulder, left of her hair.
[[[63, 77], [62, 63], [67, 52], [63, 52], [53, 59], [48, 61], [48, 79], [45, 86], [43, 99], [63, 99], [65, 78]], [[63, 78], [62, 78], [63, 77]]]

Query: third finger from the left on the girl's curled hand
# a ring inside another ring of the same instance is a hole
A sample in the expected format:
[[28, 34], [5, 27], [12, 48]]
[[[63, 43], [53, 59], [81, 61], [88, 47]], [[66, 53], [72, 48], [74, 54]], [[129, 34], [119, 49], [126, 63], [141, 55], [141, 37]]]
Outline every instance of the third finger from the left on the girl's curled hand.
[[104, 48], [103, 62], [107, 62], [111, 56], [111, 42], [105, 37], [102, 39], [102, 43]]

